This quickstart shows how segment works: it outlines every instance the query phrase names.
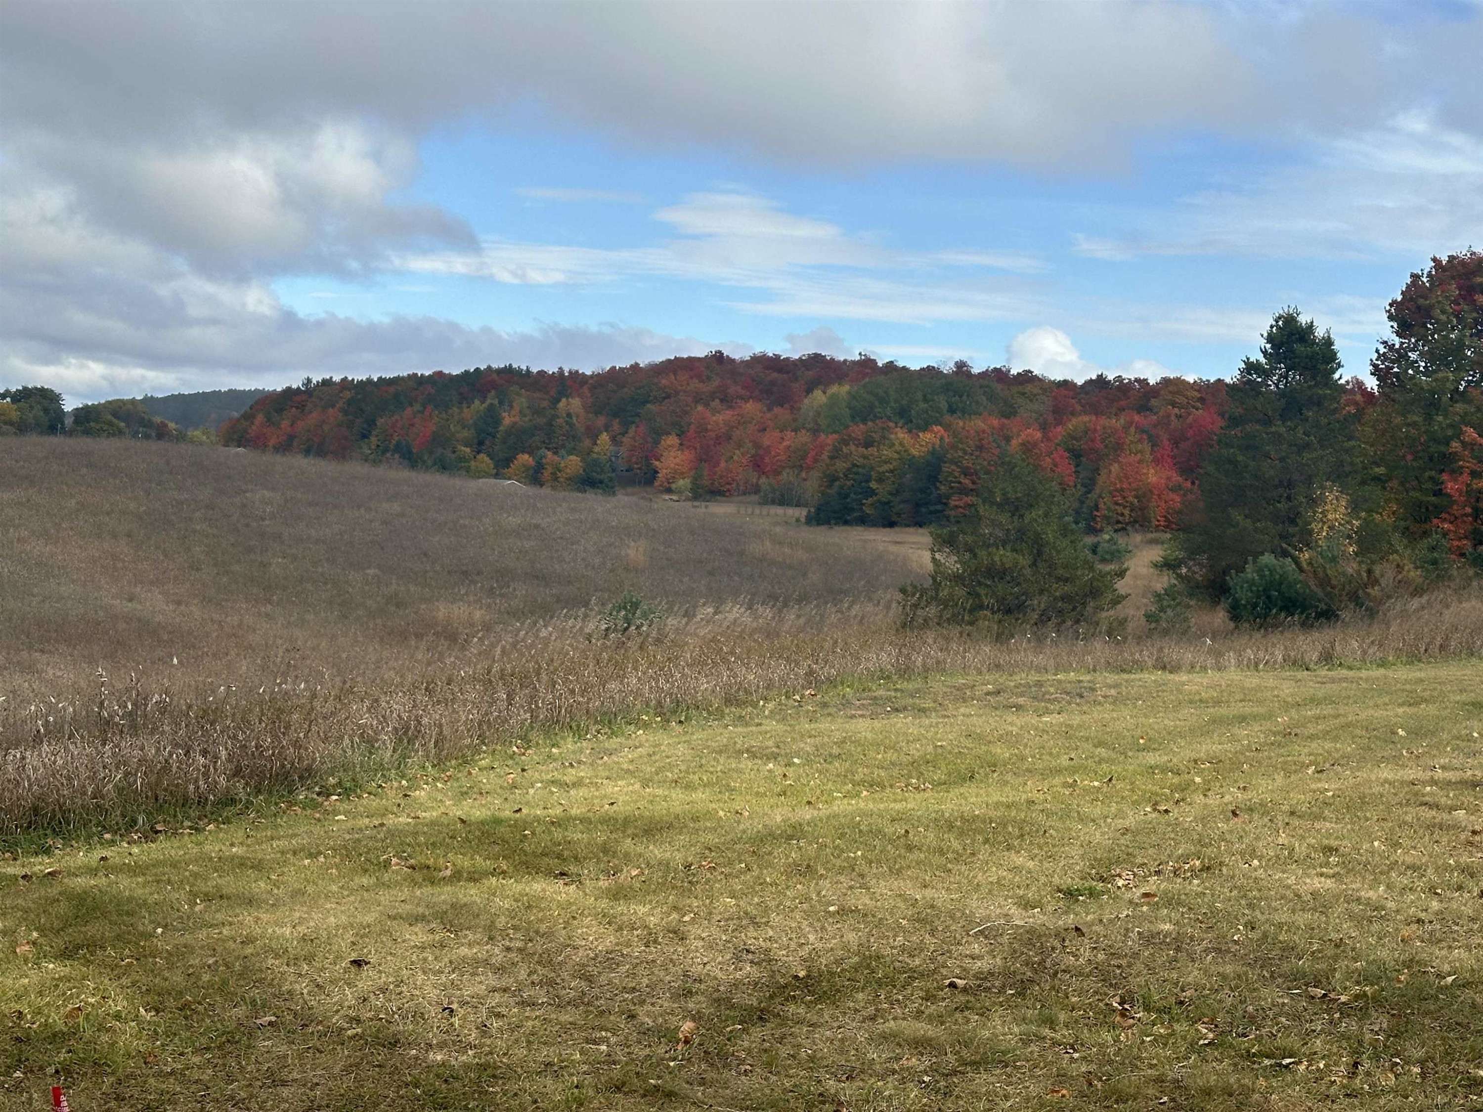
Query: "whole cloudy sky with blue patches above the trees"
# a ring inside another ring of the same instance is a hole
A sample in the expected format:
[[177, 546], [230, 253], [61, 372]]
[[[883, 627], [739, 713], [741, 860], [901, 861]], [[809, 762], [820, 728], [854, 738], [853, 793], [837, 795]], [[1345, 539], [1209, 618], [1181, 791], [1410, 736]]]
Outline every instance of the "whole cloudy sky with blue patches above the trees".
[[1483, 3], [0, 4], [0, 387], [721, 348], [1364, 374], [1483, 246]]

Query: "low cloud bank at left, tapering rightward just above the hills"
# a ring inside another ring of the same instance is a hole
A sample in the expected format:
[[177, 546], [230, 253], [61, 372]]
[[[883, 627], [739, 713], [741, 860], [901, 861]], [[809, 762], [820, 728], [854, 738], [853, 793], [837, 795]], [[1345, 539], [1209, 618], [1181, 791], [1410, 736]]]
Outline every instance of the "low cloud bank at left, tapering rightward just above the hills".
[[[258, 279], [211, 277], [83, 218], [59, 194], [6, 205], [0, 385], [46, 383], [71, 402], [305, 374], [392, 375], [485, 363], [593, 369], [718, 344], [618, 323], [466, 328], [429, 316], [304, 316]], [[746, 344], [724, 344], [750, 351]]]

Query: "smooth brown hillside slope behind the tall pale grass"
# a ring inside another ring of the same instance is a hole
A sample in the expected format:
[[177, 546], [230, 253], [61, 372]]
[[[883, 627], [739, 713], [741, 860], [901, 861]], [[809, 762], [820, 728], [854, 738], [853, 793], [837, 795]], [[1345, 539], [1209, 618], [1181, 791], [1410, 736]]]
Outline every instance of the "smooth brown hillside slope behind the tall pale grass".
[[15, 439], [0, 483], [9, 685], [96, 667], [340, 672], [607, 605], [878, 599], [919, 552], [845, 532], [194, 445]]

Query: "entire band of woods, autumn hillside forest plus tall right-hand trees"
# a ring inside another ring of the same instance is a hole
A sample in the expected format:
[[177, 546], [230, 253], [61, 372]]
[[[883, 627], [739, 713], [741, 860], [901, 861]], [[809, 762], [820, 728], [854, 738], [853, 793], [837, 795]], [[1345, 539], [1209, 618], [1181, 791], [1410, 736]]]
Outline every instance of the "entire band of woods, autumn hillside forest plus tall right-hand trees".
[[[1266, 593], [1315, 615], [1483, 565], [1483, 254], [1434, 258], [1388, 317], [1370, 383], [1284, 308], [1228, 380], [713, 351], [598, 374], [305, 380], [219, 439], [569, 491], [756, 495], [820, 525], [954, 528], [995, 498], [1050, 500], [1084, 532], [1175, 532], [1164, 569], [1192, 596], [1228, 599], [1255, 560], [1284, 560]], [[37, 390], [0, 394], [0, 428], [59, 420]], [[133, 405], [131, 431], [148, 434]], [[74, 433], [129, 418], [92, 409]]]

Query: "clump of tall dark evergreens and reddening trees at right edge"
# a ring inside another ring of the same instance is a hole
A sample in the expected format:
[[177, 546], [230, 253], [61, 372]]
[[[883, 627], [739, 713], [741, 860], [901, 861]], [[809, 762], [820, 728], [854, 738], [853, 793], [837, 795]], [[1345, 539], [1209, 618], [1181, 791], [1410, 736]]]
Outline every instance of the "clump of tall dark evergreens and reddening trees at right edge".
[[1292, 308], [1241, 363], [1164, 556], [1175, 615], [1185, 593], [1320, 620], [1483, 574], [1483, 254], [1433, 259], [1387, 316], [1373, 388]]

